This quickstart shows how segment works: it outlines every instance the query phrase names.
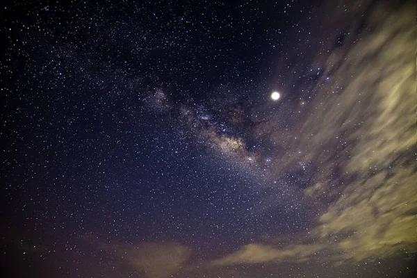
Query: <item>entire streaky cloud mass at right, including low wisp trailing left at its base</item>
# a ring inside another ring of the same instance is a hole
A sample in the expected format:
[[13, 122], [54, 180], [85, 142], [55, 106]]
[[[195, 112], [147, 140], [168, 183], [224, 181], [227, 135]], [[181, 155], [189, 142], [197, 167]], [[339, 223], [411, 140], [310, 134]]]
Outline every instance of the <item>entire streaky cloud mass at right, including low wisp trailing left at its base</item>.
[[[354, 44], [319, 57], [332, 82], [323, 77], [313, 88], [308, 116], [293, 130], [302, 136], [282, 142], [277, 134], [277, 145], [291, 155], [279, 160], [275, 174], [316, 161], [304, 196], [321, 202], [324, 213], [311, 242], [250, 244], [213, 264], [311, 259], [316, 252], [339, 261], [417, 252], [415, 10], [412, 3], [373, 8]], [[261, 131], [273, 134], [272, 124]]]

